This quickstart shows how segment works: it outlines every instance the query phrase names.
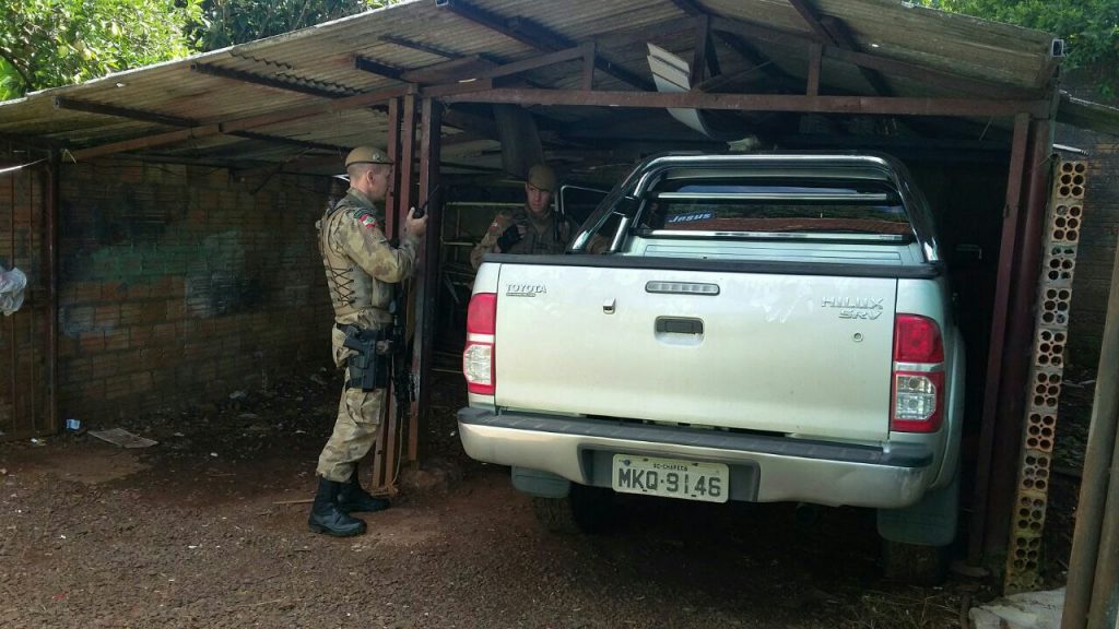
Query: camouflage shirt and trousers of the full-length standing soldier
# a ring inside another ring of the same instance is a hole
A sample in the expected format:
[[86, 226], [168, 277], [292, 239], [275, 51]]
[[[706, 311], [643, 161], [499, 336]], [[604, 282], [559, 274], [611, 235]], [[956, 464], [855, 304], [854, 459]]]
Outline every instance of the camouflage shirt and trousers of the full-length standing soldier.
[[[346, 193], [319, 222], [319, 250], [327, 271], [327, 285], [335, 309], [336, 326], [330, 332], [335, 365], [342, 367], [355, 351], [344, 347], [340, 329], [354, 325], [379, 330], [392, 322], [389, 284], [412, 273], [417, 240], [405, 234], [393, 248], [382, 232], [384, 218], [373, 201], [355, 188]], [[349, 375], [347, 374], [347, 382]], [[328, 480], [345, 482], [354, 464], [373, 447], [380, 425], [385, 389], [361, 391], [342, 386], [335, 430], [319, 456], [317, 472]]]

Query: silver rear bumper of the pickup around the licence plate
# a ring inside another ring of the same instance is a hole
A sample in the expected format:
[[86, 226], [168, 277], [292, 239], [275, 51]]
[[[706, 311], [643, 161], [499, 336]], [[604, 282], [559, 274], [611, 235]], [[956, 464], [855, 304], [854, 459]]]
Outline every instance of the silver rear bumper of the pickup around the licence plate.
[[935, 477], [932, 451], [586, 417], [459, 411], [472, 459], [540, 470], [581, 485], [611, 486], [614, 453], [726, 463], [736, 500], [901, 508]]

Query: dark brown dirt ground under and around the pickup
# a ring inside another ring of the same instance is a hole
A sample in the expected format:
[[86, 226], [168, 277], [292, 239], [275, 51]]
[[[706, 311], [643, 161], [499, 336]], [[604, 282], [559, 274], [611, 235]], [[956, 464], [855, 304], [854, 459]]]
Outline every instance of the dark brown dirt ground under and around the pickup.
[[147, 449], [0, 443], [0, 627], [941, 628], [994, 597], [959, 574], [883, 580], [863, 509], [623, 497], [602, 535], [548, 534], [506, 469], [461, 452], [462, 397], [440, 376], [421, 434], [424, 478], [443, 482], [405, 484], [348, 539], [288, 504], [313, 492], [325, 373], [88, 426]]

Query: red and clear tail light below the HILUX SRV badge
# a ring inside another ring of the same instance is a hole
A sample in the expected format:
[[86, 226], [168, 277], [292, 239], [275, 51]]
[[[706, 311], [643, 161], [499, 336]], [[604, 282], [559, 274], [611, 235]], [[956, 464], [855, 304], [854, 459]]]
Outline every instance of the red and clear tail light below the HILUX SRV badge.
[[890, 429], [935, 432], [944, 420], [944, 345], [940, 327], [928, 317], [894, 319]]

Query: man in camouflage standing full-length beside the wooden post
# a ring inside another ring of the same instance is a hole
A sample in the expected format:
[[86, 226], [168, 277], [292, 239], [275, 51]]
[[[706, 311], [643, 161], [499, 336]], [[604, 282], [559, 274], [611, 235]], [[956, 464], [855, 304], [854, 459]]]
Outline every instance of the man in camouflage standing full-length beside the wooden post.
[[[408, 212], [399, 247], [382, 231], [384, 200], [393, 162], [380, 150], [358, 147], [346, 158], [350, 188], [318, 223], [319, 250], [335, 309], [330, 345], [335, 364], [348, 366], [335, 430], [319, 456], [319, 490], [308, 524], [316, 533], [348, 537], [365, 533], [354, 511], [378, 511], [387, 500], [374, 498], [358, 479], [357, 462], [377, 439], [387, 382], [387, 329], [391, 284], [412, 273], [427, 218]], [[366, 349], [356, 349], [364, 347]]]

